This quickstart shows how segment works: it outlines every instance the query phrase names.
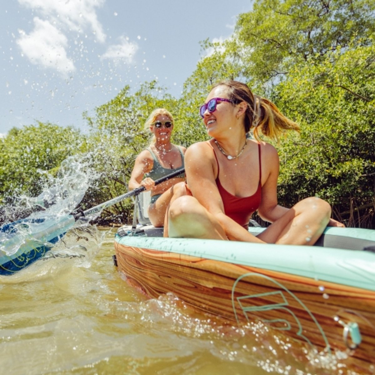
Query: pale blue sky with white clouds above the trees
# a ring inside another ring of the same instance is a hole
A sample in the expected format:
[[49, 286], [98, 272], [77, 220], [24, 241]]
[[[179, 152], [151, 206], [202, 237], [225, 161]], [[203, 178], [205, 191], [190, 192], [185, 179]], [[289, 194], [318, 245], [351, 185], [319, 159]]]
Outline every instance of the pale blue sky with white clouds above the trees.
[[86, 130], [82, 113], [155, 78], [175, 97], [252, 1], [12, 0], [0, 11], [0, 133], [35, 121]]

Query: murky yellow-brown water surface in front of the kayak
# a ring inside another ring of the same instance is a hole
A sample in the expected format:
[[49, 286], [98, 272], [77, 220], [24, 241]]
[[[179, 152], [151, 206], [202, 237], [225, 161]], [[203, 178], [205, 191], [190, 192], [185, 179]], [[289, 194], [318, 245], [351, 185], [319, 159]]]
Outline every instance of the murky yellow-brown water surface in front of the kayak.
[[48, 259], [0, 277], [1, 373], [350, 373], [261, 324], [220, 326], [172, 294], [146, 300], [113, 266], [114, 233], [66, 235]]

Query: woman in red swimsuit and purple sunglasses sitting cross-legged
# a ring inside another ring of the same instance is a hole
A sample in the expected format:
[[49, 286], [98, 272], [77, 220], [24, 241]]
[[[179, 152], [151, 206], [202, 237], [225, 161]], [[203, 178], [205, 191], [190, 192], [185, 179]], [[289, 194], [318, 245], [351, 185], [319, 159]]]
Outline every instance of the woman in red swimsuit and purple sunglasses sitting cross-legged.
[[[188, 189], [171, 200], [169, 237], [313, 245], [327, 225], [344, 226], [330, 219], [330, 205], [320, 198], [292, 208], [278, 205], [278, 153], [258, 140], [258, 132], [278, 138], [299, 126], [272, 102], [253, 95], [246, 84], [225, 81], [213, 87], [200, 114], [212, 139], [186, 151]], [[255, 139], [247, 137], [251, 129]], [[272, 223], [257, 237], [247, 230], [256, 210]]]

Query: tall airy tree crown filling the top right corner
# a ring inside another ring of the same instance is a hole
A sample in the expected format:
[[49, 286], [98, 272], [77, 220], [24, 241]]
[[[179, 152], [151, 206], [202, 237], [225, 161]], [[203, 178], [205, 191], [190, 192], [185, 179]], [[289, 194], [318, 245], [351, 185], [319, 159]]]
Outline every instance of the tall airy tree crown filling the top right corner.
[[252, 84], [277, 84], [296, 63], [371, 43], [374, 10], [371, 0], [258, 0], [239, 16], [232, 48]]

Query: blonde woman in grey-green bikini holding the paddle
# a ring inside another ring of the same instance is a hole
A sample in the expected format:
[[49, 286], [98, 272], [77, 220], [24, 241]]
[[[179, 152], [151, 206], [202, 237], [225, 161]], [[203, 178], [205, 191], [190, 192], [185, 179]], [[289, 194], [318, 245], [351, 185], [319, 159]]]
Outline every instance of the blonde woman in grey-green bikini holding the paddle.
[[151, 191], [148, 217], [153, 226], [164, 225], [166, 207], [173, 195], [174, 185], [184, 181], [185, 174], [155, 186], [155, 180], [184, 166], [186, 148], [171, 143], [174, 127], [172, 115], [164, 108], [157, 108], [148, 117], [145, 127], [153, 133], [153, 142], [135, 159], [129, 189], [144, 186]]

